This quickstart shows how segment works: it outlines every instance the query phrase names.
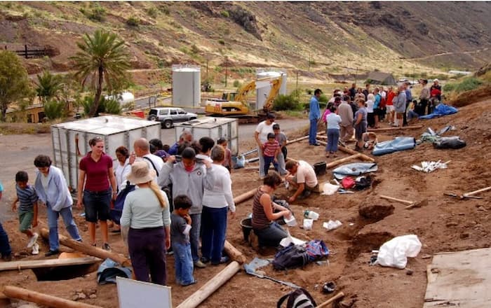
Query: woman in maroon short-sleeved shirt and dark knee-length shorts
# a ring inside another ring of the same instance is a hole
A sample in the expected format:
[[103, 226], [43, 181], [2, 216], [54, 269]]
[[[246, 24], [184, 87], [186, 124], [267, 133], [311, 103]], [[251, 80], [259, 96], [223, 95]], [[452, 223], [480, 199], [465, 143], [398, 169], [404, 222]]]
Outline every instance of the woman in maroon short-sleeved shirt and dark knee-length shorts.
[[[102, 138], [90, 139], [88, 145], [91, 151], [79, 163], [76, 207], [81, 209], [85, 205], [90, 244], [95, 246], [95, 224], [99, 220], [103, 241], [102, 249], [111, 251], [111, 246], [107, 242], [107, 220], [110, 219], [111, 198], [116, 199], [118, 191], [112, 169], [112, 158], [104, 153], [104, 140]], [[109, 182], [111, 186], [109, 186]]]

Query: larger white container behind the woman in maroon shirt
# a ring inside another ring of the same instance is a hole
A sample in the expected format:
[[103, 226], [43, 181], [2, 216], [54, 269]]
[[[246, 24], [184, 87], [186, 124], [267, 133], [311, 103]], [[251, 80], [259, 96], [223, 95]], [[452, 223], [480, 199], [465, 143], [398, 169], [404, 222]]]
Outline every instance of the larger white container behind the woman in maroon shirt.
[[53, 165], [62, 169], [72, 192], [76, 191], [79, 161], [90, 151], [88, 141], [94, 137], [104, 139], [105, 153], [116, 164], [116, 148], [126, 146], [131, 152], [133, 143], [139, 138], [160, 139], [161, 126], [160, 122], [121, 116], [101, 116], [51, 125]]

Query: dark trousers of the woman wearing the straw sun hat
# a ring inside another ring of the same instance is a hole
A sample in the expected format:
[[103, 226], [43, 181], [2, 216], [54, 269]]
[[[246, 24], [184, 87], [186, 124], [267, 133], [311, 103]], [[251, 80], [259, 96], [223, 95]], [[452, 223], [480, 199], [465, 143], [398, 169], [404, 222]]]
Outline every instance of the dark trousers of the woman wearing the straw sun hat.
[[165, 285], [166, 232], [163, 227], [133, 229], [128, 231], [128, 251], [136, 280]]

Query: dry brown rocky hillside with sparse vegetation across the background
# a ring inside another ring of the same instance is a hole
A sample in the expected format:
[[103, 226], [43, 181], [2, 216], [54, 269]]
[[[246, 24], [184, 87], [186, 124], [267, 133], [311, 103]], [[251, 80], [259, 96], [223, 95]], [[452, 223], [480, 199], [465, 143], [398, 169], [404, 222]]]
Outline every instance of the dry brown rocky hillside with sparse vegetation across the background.
[[[97, 28], [125, 39], [134, 69], [194, 63], [399, 75], [476, 69], [491, 56], [491, 5], [463, 2], [1, 2], [0, 45], [51, 46], [30, 73], [66, 71]], [[472, 16], [466, 18], [462, 16]]]

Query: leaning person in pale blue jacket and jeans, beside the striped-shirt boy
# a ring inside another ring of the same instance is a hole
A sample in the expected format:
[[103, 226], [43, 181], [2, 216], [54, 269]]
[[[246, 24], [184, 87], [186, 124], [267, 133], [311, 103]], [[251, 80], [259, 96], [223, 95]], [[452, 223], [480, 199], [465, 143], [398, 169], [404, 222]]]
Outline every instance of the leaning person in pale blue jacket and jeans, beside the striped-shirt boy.
[[48, 257], [60, 253], [58, 239], [58, 217], [60, 215], [72, 239], [82, 241], [82, 238], [72, 216], [72, 195], [70, 195], [62, 171], [51, 166], [51, 158], [46, 155], [38, 155], [34, 159], [34, 166], [39, 170], [36, 174], [34, 188], [36, 188], [39, 200], [46, 204], [48, 216], [49, 251], [45, 254]]

